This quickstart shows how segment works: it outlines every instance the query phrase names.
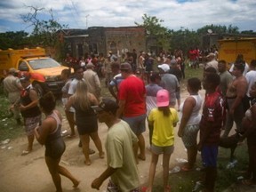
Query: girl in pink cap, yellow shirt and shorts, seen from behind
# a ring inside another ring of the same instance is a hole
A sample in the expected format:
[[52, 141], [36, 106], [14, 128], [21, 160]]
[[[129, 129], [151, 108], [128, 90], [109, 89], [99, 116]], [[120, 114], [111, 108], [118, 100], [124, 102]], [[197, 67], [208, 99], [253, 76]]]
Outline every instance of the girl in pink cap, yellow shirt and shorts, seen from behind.
[[169, 162], [174, 149], [174, 132], [173, 128], [179, 121], [178, 112], [175, 108], [169, 107], [169, 92], [159, 90], [156, 94], [156, 106], [148, 116], [148, 124], [153, 124], [153, 136], [151, 146], [151, 164], [149, 169], [149, 180], [147, 191], [151, 192], [156, 172], [158, 156], [163, 155], [164, 168], [164, 192], [171, 191], [168, 186], [169, 179]]

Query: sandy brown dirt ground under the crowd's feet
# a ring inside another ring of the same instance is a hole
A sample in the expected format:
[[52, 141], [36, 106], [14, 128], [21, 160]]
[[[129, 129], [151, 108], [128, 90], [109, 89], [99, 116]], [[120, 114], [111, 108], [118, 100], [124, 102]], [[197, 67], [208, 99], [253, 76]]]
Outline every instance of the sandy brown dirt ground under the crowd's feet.
[[[204, 91], [202, 91], [201, 93], [203, 96]], [[188, 93], [183, 92], [181, 100], [184, 100], [187, 96]], [[20, 129], [20, 127], [16, 127], [15, 129]], [[174, 153], [171, 156], [170, 169], [172, 169], [176, 165], [180, 165], [177, 160], [187, 158], [186, 150], [183, 146], [183, 143], [177, 136], [177, 130], [178, 127], [175, 128], [175, 149]], [[63, 131], [69, 132], [68, 122], [65, 118], [63, 120], [62, 126], [62, 132]], [[108, 128], [106, 124], [99, 124], [99, 134], [103, 147], [107, 132]], [[144, 138], [146, 140], [146, 147], [148, 148], [148, 130], [144, 132]], [[61, 158], [60, 164], [68, 168], [68, 170], [78, 180], [81, 180], [81, 182], [79, 184], [79, 187], [74, 189], [72, 188], [72, 183], [70, 180], [61, 177], [63, 191], [96, 191], [96, 189], [91, 188], [91, 183], [92, 180], [98, 177], [100, 173], [107, 168], [106, 159], [100, 159], [98, 153], [96, 152], [96, 154], [91, 156], [92, 164], [90, 166], [87, 166], [84, 164], [84, 155], [82, 153], [82, 148], [78, 148], [78, 136], [73, 139], [68, 139], [68, 137], [64, 136], [64, 140], [66, 142], [67, 148]], [[92, 140], [90, 146], [92, 149], [97, 151]], [[0, 191], [55, 191], [51, 175], [48, 172], [46, 164], [44, 163], [44, 147], [38, 144], [36, 140], [34, 142], [33, 151], [27, 156], [20, 156], [21, 151], [27, 148], [27, 138], [25, 134], [24, 136], [16, 140], [10, 140], [10, 142], [7, 144], [2, 144], [0, 147]], [[160, 158], [162, 158], [162, 156], [160, 156]], [[161, 162], [162, 160], [159, 159], [156, 167], [156, 177], [162, 176], [161, 173], [163, 169], [161, 166]], [[141, 184], [145, 184], [148, 180], [149, 163], [150, 152], [147, 149], [146, 161], [140, 161], [140, 163], [138, 164]], [[103, 185], [100, 187], [100, 191], [106, 191], [107, 183], [108, 180], [105, 180]], [[227, 192], [231, 191], [235, 190], [228, 190]], [[241, 189], [239, 191], [245, 190]], [[249, 191], [250, 190], [248, 190], [248, 192]], [[251, 192], [252, 191], [256, 191], [255, 188], [252, 188]]]

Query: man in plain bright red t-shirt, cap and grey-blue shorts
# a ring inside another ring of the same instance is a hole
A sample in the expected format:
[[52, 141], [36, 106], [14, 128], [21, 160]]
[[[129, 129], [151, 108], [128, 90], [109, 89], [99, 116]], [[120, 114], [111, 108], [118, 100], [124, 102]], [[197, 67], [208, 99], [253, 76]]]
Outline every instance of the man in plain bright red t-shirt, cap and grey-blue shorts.
[[[135, 158], [145, 160], [145, 140], [142, 132], [145, 132], [146, 119], [146, 89], [144, 82], [132, 74], [132, 67], [129, 63], [122, 63], [120, 66], [124, 80], [120, 84], [118, 92], [119, 109], [117, 116], [127, 122], [132, 131], [138, 137], [138, 145], [135, 146]], [[137, 156], [138, 149], [140, 154]]]

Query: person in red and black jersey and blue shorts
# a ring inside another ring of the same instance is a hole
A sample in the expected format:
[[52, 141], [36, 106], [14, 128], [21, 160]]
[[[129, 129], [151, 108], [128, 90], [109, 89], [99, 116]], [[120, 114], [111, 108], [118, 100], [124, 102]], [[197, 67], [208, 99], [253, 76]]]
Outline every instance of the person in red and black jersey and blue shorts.
[[216, 91], [220, 84], [220, 76], [209, 74], [204, 78], [206, 91], [203, 115], [200, 122], [200, 140], [198, 150], [201, 151], [202, 161], [205, 167], [204, 187], [205, 191], [213, 192], [217, 177], [217, 156], [220, 141], [220, 131], [224, 122], [225, 103]]

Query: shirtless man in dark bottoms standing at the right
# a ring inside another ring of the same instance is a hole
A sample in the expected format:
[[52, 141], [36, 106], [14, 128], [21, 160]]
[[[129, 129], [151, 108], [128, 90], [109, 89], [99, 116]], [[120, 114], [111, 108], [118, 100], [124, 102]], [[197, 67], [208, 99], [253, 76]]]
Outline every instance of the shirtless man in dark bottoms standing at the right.
[[225, 132], [222, 137], [228, 137], [228, 133], [232, 129], [233, 122], [236, 123], [236, 129], [241, 131], [242, 119], [244, 117], [243, 98], [247, 92], [248, 83], [243, 76], [245, 67], [244, 61], [236, 62], [232, 75], [235, 79], [228, 85], [228, 91], [226, 94], [228, 102], [228, 116], [225, 124]]

